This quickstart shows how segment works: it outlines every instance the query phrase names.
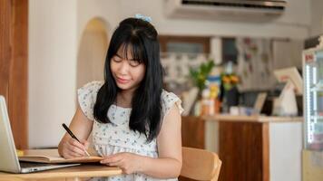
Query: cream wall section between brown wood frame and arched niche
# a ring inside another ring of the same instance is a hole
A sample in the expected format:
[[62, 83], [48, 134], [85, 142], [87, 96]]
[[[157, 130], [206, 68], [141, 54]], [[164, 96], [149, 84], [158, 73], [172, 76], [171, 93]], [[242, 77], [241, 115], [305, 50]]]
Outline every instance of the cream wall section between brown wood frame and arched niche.
[[76, 0], [29, 1], [29, 146], [53, 147], [74, 110]]

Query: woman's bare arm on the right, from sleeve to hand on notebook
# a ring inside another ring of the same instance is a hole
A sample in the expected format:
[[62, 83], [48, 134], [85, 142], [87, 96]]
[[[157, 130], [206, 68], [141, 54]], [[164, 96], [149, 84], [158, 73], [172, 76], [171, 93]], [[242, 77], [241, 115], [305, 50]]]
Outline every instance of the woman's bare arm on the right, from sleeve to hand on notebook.
[[178, 177], [181, 173], [181, 115], [176, 105], [163, 119], [157, 147], [158, 158], [123, 152], [107, 156], [101, 163], [121, 167], [125, 174], [140, 172], [156, 178]]

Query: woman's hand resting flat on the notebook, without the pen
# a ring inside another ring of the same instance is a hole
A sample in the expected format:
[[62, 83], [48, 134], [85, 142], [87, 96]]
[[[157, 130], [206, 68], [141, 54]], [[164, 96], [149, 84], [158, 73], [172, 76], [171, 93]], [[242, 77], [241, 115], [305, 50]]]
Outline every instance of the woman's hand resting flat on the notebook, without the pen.
[[105, 156], [100, 163], [107, 166], [120, 167], [124, 174], [132, 174], [134, 172], [141, 172], [143, 159], [144, 157], [142, 156], [122, 152]]

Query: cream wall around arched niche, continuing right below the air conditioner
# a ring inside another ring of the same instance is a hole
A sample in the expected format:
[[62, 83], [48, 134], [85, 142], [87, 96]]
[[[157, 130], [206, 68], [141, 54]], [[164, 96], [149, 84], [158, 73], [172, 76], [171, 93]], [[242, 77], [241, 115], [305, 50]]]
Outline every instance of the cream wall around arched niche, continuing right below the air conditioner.
[[161, 34], [243, 35], [306, 38], [309, 1], [289, 0], [286, 14], [268, 24], [168, 19], [163, 0], [30, 0], [29, 1], [29, 145], [55, 147], [64, 134], [76, 102], [77, 54], [86, 24], [94, 17], [107, 34], [125, 17], [152, 16]]

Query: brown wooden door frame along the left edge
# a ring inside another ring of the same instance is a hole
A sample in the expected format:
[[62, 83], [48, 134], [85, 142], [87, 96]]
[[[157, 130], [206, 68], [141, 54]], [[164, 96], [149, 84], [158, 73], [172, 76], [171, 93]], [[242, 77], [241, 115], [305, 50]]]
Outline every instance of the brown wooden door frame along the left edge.
[[28, 148], [28, 0], [0, 1], [0, 94], [16, 148]]

